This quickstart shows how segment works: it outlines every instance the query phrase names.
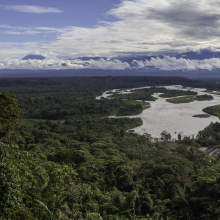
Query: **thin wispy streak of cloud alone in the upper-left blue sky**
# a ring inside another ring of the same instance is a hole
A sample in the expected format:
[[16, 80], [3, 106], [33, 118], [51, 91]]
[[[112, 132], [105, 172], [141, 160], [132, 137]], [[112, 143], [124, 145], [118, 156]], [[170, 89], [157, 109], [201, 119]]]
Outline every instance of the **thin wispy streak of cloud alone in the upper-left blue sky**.
[[61, 13], [57, 8], [41, 7], [36, 5], [2, 5], [3, 9], [8, 11], [17, 11], [24, 13], [44, 14], [44, 13]]

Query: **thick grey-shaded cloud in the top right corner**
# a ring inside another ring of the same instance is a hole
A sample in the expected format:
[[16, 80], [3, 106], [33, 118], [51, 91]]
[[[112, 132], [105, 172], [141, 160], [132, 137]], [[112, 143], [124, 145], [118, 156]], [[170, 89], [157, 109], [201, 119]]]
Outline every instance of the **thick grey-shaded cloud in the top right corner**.
[[149, 9], [146, 18], [167, 23], [180, 36], [210, 39], [220, 34], [219, 1], [216, 0], [170, 1], [166, 7]]

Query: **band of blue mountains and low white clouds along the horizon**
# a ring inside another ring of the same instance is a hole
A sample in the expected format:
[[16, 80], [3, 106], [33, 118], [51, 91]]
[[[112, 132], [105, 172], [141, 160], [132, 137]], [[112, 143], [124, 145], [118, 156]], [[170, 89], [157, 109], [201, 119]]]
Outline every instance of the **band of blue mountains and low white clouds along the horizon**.
[[[200, 51], [189, 51], [181, 54], [168, 55], [143, 55], [131, 54], [118, 57], [79, 57], [79, 58], [59, 58], [56, 56], [29, 54], [22, 59], [0, 62], [0, 72], [5, 73], [9, 70], [106, 70], [106, 71], [126, 71], [162, 73], [169, 72], [171, 75], [187, 73], [191, 71], [201, 71], [204, 73], [217, 74], [220, 69], [220, 52], [208, 49]], [[7, 71], [6, 71], [7, 70]], [[115, 72], [115, 73], [116, 73]], [[92, 74], [93, 75], [93, 74]], [[166, 75], [166, 74], [165, 74]]]

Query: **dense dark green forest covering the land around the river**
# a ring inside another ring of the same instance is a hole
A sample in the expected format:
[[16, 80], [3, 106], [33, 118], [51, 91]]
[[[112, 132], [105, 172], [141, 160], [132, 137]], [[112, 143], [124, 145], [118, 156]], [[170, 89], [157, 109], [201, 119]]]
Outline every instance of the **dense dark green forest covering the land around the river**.
[[195, 139], [153, 141], [127, 132], [141, 119], [107, 117], [145, 105], [96, 99], [160, 85], [220, 91], [176, 77], [0, 79], [0, 219], [220, 219], [220, 156], [200, 150], [220, 144], [219, 123]]

